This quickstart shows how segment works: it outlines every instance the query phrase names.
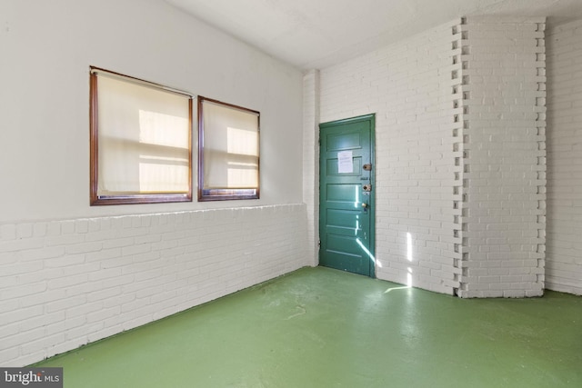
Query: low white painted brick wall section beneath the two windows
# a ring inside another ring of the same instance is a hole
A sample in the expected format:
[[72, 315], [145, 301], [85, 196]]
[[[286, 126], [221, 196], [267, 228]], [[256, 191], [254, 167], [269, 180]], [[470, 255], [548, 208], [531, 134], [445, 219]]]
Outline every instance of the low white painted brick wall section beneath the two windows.
[[306, 205], [0, 225], [0, 365], [23, 366], [311, 263]]

